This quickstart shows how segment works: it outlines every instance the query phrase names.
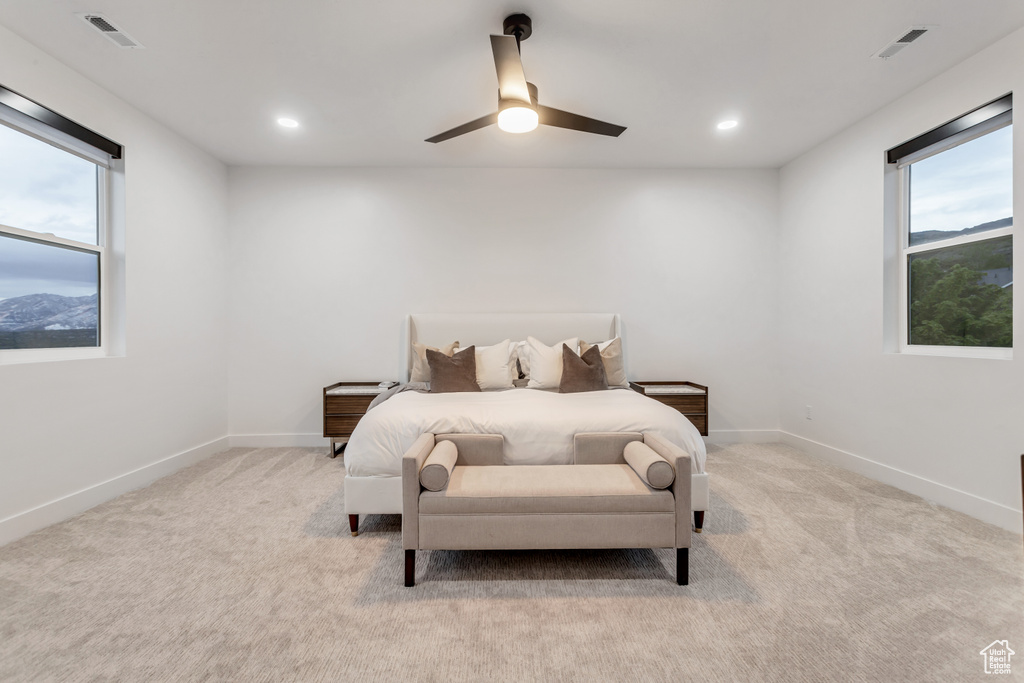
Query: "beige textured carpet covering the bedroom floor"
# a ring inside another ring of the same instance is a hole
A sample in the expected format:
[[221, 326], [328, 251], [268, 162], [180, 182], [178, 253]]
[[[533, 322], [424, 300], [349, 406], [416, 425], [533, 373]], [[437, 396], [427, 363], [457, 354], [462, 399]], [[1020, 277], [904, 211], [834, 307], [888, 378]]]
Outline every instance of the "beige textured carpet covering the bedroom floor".
[[967, 681], [1009, 639], [1013, 533], [782, 445], [712, 449], [688, 587], [668, 550], [352, 538], [342, 461], [234, 449], [0, 548], [3, 681]]

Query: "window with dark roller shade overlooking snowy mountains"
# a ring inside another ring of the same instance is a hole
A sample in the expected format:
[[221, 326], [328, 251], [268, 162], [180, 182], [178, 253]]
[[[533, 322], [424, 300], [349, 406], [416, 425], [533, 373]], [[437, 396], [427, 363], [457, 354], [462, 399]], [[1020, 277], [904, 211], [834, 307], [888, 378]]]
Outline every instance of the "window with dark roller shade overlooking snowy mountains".
[[0, 87], [0, 353], [103, 346], [110, 145]]

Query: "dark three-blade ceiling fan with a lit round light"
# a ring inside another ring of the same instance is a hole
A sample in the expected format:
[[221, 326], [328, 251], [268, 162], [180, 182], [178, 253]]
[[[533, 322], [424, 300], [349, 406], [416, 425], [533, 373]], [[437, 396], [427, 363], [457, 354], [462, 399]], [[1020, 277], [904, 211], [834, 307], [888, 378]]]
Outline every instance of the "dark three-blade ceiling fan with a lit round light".
[[490, 50], [498, 72], [498, 112], [428, 137], [427, 142], [443, 142], [494, 123], [510, 133], [526, 133], [538, 124], [612, 137], [618, 137], [626, 130], [625, 126], [539, 104], [537, 86], [526, 82], [519, 55], [519, 44], [534, 33], [534, 23], [525, 14], [512, 14], [505, 18], [503, 29], [505, 35], [490, 36]]

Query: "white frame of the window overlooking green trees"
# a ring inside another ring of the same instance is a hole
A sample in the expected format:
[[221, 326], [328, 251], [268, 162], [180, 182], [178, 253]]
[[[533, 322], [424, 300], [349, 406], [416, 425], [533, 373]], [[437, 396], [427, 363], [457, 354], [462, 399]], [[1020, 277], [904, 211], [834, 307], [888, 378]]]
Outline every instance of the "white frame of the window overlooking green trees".
[[[910, 166], [919, 161], [946, 152], [955, 146], [977, 139], [996, 130], [1013, 125], [1013, 110], [993, 117], [984, 124], [975, 126], [956, 135], [951, 135], [920, 152], [899, 160], [898, 197], [899, 197], [899, 352], [910, 355], [945, 355], [966, 358], [995, 358], [1010, 360], [1014, 357], [1013, 347], [994, 346], [934, 346], [910, 343], [910, 256], [924, 252], [958, 247], [961, 245], [995, 240], [1013, 236], [1014, 226], [1000, 227], [974, 234], [965, 234], [949, 240], [938, 240], [921, 245], [910, 246]], [[1015, 340], [1016, 343], [1016, 340]]]

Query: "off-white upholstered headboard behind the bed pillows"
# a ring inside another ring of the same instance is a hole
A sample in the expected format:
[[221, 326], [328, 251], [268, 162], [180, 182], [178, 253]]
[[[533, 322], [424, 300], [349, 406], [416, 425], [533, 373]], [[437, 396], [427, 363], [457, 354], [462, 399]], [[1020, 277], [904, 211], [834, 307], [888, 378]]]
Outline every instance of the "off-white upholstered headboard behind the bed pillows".
[[537, 337], [545, 344], [580, 337], [596, 342], [622, 336], [616, 313], [413, 313], [406, 318], [399, 377], [409, 381], [414, 341], [443, 346], [458, 339], [463, 347], [488, 346], [503, 339]]

